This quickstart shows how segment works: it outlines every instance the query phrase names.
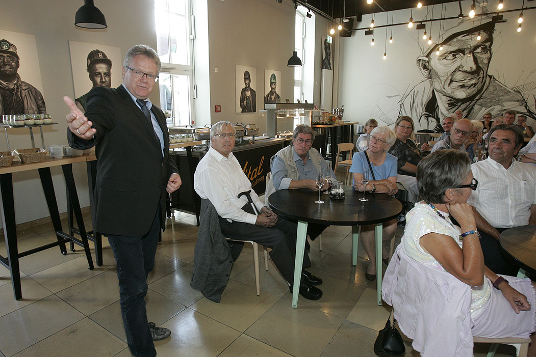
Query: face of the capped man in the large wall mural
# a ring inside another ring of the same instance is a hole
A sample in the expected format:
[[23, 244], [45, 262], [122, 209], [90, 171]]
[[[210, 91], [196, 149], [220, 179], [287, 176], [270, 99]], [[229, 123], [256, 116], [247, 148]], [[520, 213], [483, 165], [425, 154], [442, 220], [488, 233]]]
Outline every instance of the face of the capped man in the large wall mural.
[[421, 71], [429, 78], [434, 90], [457, 100], [470, 98], [486, 83], [489, 61], [492, 58], [493, 37], [481, 32], [463, 34], [443, 44], [439, 55], [433, 51], [421, 63]]

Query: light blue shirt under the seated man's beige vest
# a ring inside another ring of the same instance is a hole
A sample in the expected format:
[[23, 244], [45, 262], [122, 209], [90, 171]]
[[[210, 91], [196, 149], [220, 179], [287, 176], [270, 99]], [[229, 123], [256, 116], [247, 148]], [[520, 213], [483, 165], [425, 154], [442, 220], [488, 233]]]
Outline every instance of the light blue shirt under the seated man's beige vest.
[[[309, 153], [307, 153], [307, 161], [304, 164], [301, 157], [296, 154], [296, 151], [292, 150], [292, 155], [294, 158], [294, 162], [296, 162], [296, 168], [299, 174], [299, 180], [316, 180], [318, 176], [318, 170], [316, 169], [315, 165], [312, 163], [311, 159], [309, 158]], [[320, 155], [320, 154], [318, 154]], [[322, 157], [322, 155], [321, 155]], [[333, 170], [331, 167], [327, 164], [327, 162], [322, 157], [320, 161], [320, 167], [322, 170], [326, 170], [329, 167], [329, 175], [330, 177], [337, 182], [337, 177], [333, 173]], [[282, 158], [279, 156], [274, 157], [272, 162], [272, 178], [273, 178], [273, 186], [276, 187], [277, 190], [280, 189], [288, 189], [288, 187], [291, 185], [291, 178], [287, 177], [287, 166], [285, 166], [285, 162]]]

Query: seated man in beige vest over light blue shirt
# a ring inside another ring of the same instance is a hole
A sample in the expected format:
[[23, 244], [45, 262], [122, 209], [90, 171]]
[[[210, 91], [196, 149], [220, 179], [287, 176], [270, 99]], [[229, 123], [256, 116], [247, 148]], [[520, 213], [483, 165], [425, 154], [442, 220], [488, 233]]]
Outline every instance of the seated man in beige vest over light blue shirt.
[[[374, 120], [374, 119], [371, 119]], [[315, 141], [315, 132], [308, 125], [298, 125], [294, 128], [292, 143], [279, 150], [271, 162], [272, 177], [266, 183], [266, 199], [280, 189], [307, 188], [318, 191], [316, 178], [318, 172], [327, 172], [333, 182], [337, 177], [331, 166], [325, 161], [317, 149], [312, 147]], [[327, 187], [322, 187], [325, 191]], [[325, 224], [309, 223], [307, 235], [311, 240], [318, 237], [326, 229]], [[308, 267], [310, 261], [304, 261], [304, 267]]]

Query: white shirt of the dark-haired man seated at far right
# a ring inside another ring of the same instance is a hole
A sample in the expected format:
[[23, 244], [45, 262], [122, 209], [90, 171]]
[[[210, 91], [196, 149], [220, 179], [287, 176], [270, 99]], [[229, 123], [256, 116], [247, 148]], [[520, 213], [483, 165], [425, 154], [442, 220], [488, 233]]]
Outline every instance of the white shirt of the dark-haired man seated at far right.
[[507, 169], [487, 158], [471, 165], [478, 180], [477, 191], [467, 203], [495, 228], [528, 224], [530, 208], [536, 203], [536, 168], [512, 160]]

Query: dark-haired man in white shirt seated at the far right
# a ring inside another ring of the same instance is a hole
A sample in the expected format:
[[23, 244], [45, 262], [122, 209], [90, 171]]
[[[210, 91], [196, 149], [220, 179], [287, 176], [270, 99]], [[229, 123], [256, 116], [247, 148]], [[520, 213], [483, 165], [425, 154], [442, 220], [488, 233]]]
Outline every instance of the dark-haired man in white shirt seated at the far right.
[[536, 168], [513, 158], [522, 144], [516, 125], [494, 126], [488, 135], [489, 157], [471, 165], [478, 185], [467, 203], [475, 212], [484, 262], [495, 274], [517, 273], [499, 247], [500, 232], [536, 224]]

